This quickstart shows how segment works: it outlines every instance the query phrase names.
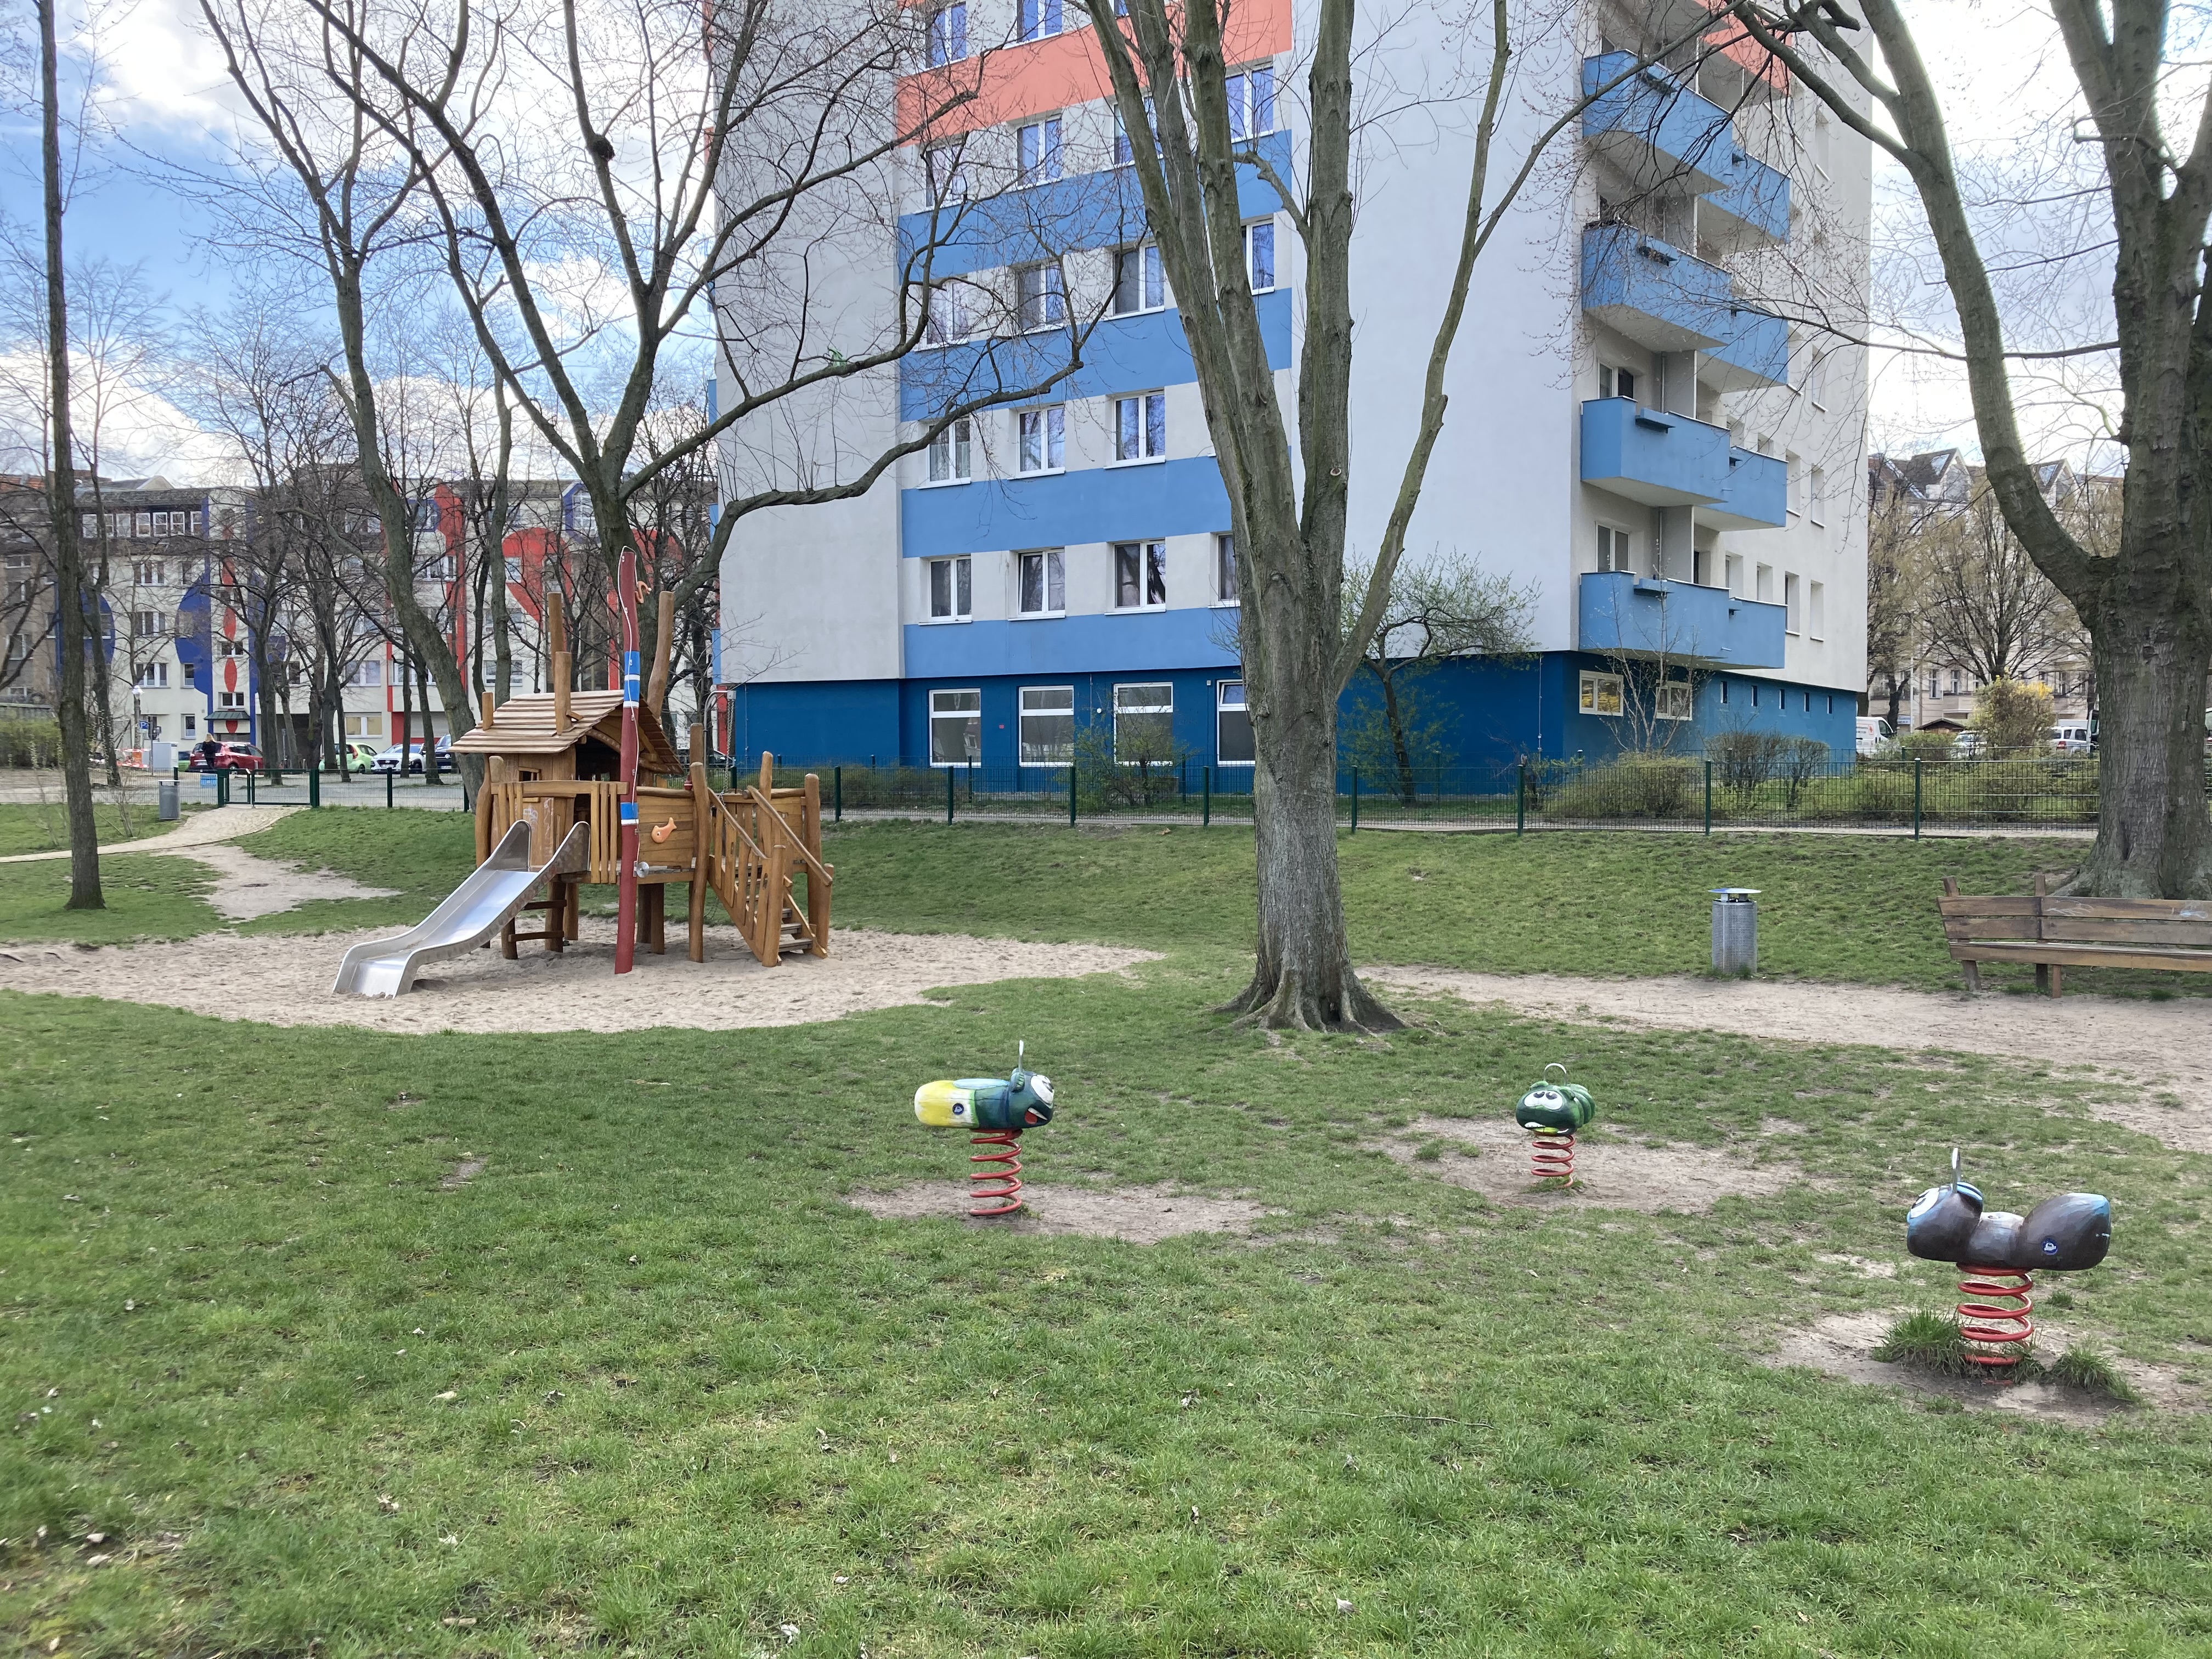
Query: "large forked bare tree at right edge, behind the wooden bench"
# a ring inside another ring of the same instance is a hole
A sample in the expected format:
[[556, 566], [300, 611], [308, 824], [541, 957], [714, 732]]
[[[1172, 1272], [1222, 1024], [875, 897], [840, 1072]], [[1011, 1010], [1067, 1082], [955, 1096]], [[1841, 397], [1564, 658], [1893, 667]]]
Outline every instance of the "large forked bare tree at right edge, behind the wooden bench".
[[[1958, 310], [1989, 484], [2095, 641], [2097, 843], [2075, 889], [2203, 896], [2212, 891], [2201, 714], [2212, 666], [2212, 520], [2201, 509], [2212, 469], [2212, 93], [2177, 91], [2168, 0], [2053, 0], [2051, 9], [2084, 108], [2075, 135], [2097, 146], [2097, 195], [2110, 210], [2115, 338], [2062, 347], [2117, 354], [2112, 436], [2126, 445], [2128, 482], [2110, 557], [2066, 526], [2026, 456], [1991, 261], [1898, 0], [1858, 0], [1858, 15], [1840, 0], [1730, 0], [1759, 44], [1913, 179]], [[1874, 55], [1854, 42], [1860, 18]], [[1858, 108], [1863, 97], [1880, 117]], [[2188, 117], [2185, 139], [2168, 135], [2170, 115]]]

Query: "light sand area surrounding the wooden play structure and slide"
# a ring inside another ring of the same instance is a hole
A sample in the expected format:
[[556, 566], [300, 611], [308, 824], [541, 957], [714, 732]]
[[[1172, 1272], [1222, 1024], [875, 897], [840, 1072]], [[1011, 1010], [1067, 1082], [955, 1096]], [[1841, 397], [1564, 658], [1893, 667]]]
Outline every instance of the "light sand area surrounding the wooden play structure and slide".
[[737, 929], [708, 929], [708, 960], [637, 953], [615, 973], [613, 922], [586, 918], [584, 938], [560, 956], [524, 949], [509, 962], [478, 949], [434, 962], [403, 998], [332, 995], [347, 945], [374, 933], [206, 933], [177, 945], [97, 951], [46, 945], [0, 949], [0, 989], [155, 1002], [217, 1020], [372, 1031], [741, 1031], [836, 1020], [863, 1009], [922, 1002], [922, 991], [991, 980], [1110, 973], [1155, 960], [1106, 945], [1024, 945], [960, 933], [832, 933], [830, 956], [785, 956], [761, 967]]

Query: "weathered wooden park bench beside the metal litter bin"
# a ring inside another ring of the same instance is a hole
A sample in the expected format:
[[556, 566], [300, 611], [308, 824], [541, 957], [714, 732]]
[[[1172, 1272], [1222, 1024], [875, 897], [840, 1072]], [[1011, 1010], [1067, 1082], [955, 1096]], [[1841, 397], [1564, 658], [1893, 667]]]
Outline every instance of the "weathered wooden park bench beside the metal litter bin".
[[1942, 931], [1966, 989], [1982, 989], [1982, 962], [2033, 962], [2035, 989], [2059, 995], [2068, 967], [2148, 967], [2212, 973], [2212, 900], [2051, 898], [2035, 878], [2026, 896], [1960, 894], [1942, 883]]

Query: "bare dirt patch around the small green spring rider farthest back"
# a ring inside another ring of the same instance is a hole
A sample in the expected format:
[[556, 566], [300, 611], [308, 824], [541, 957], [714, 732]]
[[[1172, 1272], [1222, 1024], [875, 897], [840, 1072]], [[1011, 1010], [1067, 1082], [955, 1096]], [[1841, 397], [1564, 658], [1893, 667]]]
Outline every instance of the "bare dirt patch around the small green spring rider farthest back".
[[[1617, 1135], [1575, 1141], [1575, 1186], [1535, 1186], [1528, 1175], [1528, 1133], [1502, 1117], [1418, 1117], [1383, 1144], [1418, 1175], [1480, 1192], [1493, 1203], [1582, 1206], [1590, 1210], [1710, 1210], [1717, 1199], [1759, 1199], [1781, 1192], [1801, 1175], [1794, 1164], [1743, 1164], [1703, 1146], [1635, 1141]], [[1447, 1141], [1433, 1159], [1420, 1157]]]

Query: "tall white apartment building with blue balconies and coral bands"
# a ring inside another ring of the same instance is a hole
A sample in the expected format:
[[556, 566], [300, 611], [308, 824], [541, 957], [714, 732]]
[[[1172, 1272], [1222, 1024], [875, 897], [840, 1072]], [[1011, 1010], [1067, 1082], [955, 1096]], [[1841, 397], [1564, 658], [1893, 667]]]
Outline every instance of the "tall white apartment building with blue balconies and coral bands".
[[[1869, 148], [1730, 42], [1712, 7], [1588, 4], [1564, 33], [1555, 15], [1528, 7], [1502, 148], [1517, 164], [1559, 111], [1597, 97], [1475, 268], [1407, 538], [1409, 560], [1478, 557], [1537, 595], [1533, 655], [1425, 681], [1451, 759], [1604, 759], [1648, 741], [1624, 719], [1639, 664], [1663, 664], [1652, 701], [1683, 752], [1763, 726], [1849, 754], [1865, 688], [1865, 361], [1763, 296], [1818, 265], [1829, 303], [1863, 305]], [[1298, 177], [1305, 150], [1294, 46], [1310, 27], [1298, 0], [1256, 0], [1232, 31], [1237, 122], [1281, 177]], [[1668, 40], [1688, 44], [1639, 69]], [[953, 0], [929, 42], [940, 64], [993, 42], [975, 102], [987, 126], [909, 155], [898, 232], [823, 279], [845, 310], [880, 316], [902, 261], [938, 241], [929, 345], [874, 411], [845, 400], [836, 456], [852, 465], [916, 434], [945, 387], [973, 383], [978, 354], [1064, 334], [1099, 301], [1106, 314], [1084, 369], [1046, 398], [956, 425], [860, 500], [739, 524], [723, 595], [748, 637], [723, 639], [728, 743], [1053, 768], [1079, 726], [1113, 721], [1148, 741], [1168, 730], [1234, 776], [1252, 739], [1228, 495], [1097, 46], [1048, 0]], [[1409, 15], [1360, 73], [1394, 75], [1418, 102], [1422, 75], [1464, 51], [1458, 15]], [[1425, 142], [1374, 144], [1358, 175], [1352, 524], [1367, 549], [1458, 243], [1464, 115], [1429, 122]], [[971, 168], [1013, 188], [949, 212]], [[1254, 168], [1241, 201], [1294, 409], [1298, 241]], [[1040, 226], [1073, 234], [1048, 248]], [[765, 422], [741, 429], [726, 473], [772, 473], [761, 456], [776, 445]]]

